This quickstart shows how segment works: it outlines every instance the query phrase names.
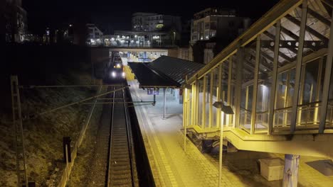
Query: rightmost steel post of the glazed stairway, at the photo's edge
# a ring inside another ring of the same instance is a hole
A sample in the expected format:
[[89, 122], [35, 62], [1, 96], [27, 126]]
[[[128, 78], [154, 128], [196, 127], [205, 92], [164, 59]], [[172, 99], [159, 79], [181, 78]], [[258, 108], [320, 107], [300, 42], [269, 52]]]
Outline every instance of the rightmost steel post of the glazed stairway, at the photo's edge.
[[[333, 11], [331, 18], [333, 18]], [[320, 108], [320, 117], [319, 117], [319, 131], [318, 131], [319, 133], [324, 133], [325, 130], [327, 105], [329, 99], [329, 85], [331, 83], [331, 77], [332, 77], [332, 59], [333, 59], [333, 21], [331, 22], [331, 30], [329, 34], [329, 48], [327, 54], [325, 78], [322, 91], [322, 107]]]

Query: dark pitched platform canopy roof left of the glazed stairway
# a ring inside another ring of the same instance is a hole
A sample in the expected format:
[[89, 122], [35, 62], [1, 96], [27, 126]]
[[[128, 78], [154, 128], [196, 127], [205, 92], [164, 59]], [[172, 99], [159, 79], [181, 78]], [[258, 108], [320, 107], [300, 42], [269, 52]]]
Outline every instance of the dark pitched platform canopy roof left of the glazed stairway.
[[196, 73], [203, 64], [162, 56], [150, 63], [128, 62], [142, 88], [179, 88], [185, 76]]

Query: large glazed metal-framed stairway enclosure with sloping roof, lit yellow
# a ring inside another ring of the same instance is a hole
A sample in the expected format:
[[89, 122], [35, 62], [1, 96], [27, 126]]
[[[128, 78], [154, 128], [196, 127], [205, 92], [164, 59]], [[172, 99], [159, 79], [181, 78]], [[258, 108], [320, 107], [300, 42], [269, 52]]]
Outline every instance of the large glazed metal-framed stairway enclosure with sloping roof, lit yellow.
[[[184, 125], [211, 132], [223, 123], [250, 135], [332, 129], [333, 15], [324, 6], [322, 0], [280, 1], [189, 77], [184, 111], [191, 121], [184, 118]], [[233, 119], [221, 120], [214, 100], [226, 101]]]

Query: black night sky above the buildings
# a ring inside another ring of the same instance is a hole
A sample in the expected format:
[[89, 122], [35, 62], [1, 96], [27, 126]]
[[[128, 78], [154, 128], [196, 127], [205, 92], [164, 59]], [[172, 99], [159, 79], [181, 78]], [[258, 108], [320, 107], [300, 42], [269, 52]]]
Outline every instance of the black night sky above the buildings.
[[46, 26], [56, 27], [69, 18], [85, 18], [96, 23], [102, 31], [129, 30], [132, 13], [137, 11], [164, 13], [192, 18], [193, 14], [210, 6], [236, 8], [240, 16], [258, 19], [278, 0], [219, 0], [200, 1], [140, 1], [140, 0], [23, 0], [28, 12], [28, 30], [36, 33]]

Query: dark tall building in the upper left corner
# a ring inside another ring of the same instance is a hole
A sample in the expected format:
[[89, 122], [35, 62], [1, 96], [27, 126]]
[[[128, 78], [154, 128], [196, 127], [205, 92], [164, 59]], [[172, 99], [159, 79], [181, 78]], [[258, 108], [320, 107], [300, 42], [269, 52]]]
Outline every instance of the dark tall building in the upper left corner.
[[0, 2], [0, 24], [0, 40], [23, 42], [27, 28], [27, 18], [21, 0], [3, 0]]

